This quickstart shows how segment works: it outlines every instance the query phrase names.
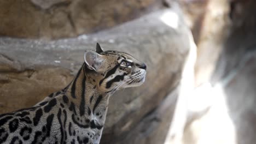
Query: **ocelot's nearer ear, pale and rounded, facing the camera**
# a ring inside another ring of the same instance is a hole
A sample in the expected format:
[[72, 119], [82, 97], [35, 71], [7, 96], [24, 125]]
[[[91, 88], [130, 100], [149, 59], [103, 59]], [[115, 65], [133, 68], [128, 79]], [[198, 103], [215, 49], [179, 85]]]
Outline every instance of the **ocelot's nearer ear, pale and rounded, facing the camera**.
[[86, 63], [89, 69], [95, 70], [96, 72], [98, 72], [103, 61], [104, 59], [102, 55], [92, 50], [85, 50], [84, 62]]

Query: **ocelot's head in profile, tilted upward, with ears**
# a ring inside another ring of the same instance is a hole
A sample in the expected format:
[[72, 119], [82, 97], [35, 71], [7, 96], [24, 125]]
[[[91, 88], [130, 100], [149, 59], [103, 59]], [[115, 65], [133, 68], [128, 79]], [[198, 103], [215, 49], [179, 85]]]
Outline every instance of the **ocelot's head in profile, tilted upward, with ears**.
[[126, 52], [103, 51], [97, 43], [96, 51], [84, 53], [86, 67], [95, 73], [97, 87], [111, 92], [142, 85], [147, 66]]

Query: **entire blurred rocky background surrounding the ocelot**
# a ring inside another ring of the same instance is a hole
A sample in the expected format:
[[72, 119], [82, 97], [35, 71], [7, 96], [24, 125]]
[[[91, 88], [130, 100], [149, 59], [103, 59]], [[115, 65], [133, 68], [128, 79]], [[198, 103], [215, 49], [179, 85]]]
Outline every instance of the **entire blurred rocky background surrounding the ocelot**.
[[0, 113], [72, 81], [85, 49], [146, 62], [115, 93], [101, 143], [254, 144], [254, 0], [0, 0]]

